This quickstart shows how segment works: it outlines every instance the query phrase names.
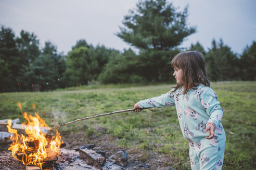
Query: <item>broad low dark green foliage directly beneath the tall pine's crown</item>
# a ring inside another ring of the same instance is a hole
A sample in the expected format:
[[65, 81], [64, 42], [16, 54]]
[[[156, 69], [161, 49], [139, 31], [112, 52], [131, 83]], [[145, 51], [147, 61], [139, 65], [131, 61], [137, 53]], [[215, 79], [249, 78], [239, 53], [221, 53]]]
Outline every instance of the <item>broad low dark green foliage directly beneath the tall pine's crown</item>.
[[145, 50], [136, 55], [131, 49], [112, 58], [100, 74], [102, 83], [146, 83], [172, 80], [174, 50]]

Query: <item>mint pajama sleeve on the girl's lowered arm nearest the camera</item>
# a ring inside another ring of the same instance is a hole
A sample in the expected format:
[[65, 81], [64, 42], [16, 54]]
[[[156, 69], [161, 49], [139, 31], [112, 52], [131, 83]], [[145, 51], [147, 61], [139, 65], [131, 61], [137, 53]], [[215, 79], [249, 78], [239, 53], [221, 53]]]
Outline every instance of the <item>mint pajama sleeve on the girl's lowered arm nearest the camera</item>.
[[223, 116], [223, 109], [217, 99], [217, 94], [211, 88], [207, 88], [200, 95], [201, 105], [210, 116], [208, 123], [213, 123], [215, 127], [220, 124]]

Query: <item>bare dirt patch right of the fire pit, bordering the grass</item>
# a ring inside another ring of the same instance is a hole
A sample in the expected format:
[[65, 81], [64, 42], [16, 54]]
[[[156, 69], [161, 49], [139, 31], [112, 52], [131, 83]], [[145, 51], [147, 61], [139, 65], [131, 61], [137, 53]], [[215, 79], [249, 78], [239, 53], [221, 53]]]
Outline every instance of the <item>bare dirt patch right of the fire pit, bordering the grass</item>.
[[159, 170], [175, 170], [173, 168], [174, 163], [171, 162], [169, 155], [158, 153], [147, 153], [142, 150], [121, 148], [113, 145], [112, 141], [117, 140], [111, 135], [105, 134], [101, 136], [91, 136], [84, 140], [81, 140], [80, 134], [73, 134], [68, 136], [62, 136], [63, 141], [67, 144], [67, 149], [75, 149], [86, 144], [95, 144], [95, 149], [106, 151], [107, 157], [112, 154], [116, 154], [120, 150], [124, 150], [127, 153], [128, 164], [127, 169], [159, 169]]

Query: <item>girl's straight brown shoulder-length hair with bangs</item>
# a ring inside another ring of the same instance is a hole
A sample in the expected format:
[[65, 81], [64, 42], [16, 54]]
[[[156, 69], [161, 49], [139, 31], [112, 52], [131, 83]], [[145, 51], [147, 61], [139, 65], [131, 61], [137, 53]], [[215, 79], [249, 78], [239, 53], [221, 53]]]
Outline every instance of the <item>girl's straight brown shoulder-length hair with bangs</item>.
[[177, 83], [172, 92], [183, 87], [183, 94], [186, 94], [189, 89], [197, 89], [198, 84], [210, 87], [206, 62], [202, 53], [198, 51], [181, 52], [172, 59], [171, 64], [173, 68], [182, 69], [182, 83]]

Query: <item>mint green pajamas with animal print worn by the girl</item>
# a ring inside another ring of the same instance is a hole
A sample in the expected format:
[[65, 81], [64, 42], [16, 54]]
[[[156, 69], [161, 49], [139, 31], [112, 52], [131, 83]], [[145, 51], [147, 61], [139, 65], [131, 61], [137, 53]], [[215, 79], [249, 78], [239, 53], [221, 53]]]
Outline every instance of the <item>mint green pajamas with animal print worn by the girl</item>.
[[[139, 101], [138, 105], [140, 108], [176, 106], [183, 136], [189, 143], [191, 169], [222, 169], [226, 136], [221, 124], [223, 109], [217, 101], [217, 94], [202, 84], [185, 95], [183, 89], [171, 91]], [[204, 138], [209, 136], [204, 132], [207, 123], [216, 127], [210, 140]]]

